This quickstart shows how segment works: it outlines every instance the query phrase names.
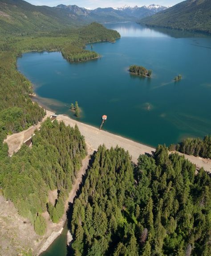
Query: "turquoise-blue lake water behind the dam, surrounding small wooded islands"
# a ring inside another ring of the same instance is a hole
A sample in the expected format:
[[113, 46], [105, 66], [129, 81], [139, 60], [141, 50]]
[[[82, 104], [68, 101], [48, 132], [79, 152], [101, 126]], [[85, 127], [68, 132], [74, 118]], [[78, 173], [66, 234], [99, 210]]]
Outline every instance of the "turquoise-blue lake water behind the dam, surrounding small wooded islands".
[[[65, 105], [77, 100], [81, 122], [99, 127], [105, 114], [105, 130], [152, 146], [211, 133], [211, 37], [133, 23], [106, 26], [122, 38], [94, 43], [98, 60], [69, 63], [59, 52], [18, 58], [39, 102], [75, 118]], [[152, 77], [131, 75], [131, 64], [153, 70]], [[175, 83], [178, 74], [183, 78]]]

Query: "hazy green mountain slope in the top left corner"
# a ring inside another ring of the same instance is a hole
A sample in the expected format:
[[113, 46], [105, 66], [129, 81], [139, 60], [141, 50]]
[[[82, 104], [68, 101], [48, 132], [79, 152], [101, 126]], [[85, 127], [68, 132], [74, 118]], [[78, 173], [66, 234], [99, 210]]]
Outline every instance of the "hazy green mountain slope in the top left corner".
[[[1, 33], [36, 33], [72, 28], [82, 23], [65, 9], [35, 6], [23, 0], [0, 0]], [[84, 23], [84, 22], [83, 22]]]

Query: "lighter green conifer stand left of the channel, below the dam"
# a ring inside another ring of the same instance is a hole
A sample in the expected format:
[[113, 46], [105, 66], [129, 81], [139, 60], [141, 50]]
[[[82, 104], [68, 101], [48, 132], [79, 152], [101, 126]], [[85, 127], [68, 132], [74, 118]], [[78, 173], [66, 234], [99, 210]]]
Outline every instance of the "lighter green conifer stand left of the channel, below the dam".
[[[12, 157], [0, 161], [0, 187], [18, 212], [27, 217], [39, 235], [45, 233], [41, 213], [49, 211], [57, 223], [64, 214], [64, 202], [86, 155], [84, 137], [72, 128], [50, 119], [32, 137], [32, 149], [23, 145]], [[48, 204], [49, 190], [58, 190], [55, 205]], [[38, 224], [39, 223], [39, 224]]]

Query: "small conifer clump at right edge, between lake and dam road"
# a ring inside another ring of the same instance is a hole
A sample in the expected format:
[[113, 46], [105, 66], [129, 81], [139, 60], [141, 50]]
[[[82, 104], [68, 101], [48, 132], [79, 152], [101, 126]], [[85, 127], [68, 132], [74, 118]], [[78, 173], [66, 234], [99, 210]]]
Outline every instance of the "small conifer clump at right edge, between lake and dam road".
[[211, 158], [211, 135], [205, 136], [203, 140], [188, 138], [176, 145], [170, 145], [169, 150], [177, 150], [187, 155], [195, 157]]

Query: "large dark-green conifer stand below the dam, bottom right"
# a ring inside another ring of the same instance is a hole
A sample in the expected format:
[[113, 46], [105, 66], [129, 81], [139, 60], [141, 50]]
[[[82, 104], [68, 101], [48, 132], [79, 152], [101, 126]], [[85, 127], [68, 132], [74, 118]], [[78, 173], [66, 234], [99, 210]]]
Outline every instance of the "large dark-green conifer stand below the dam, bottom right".
[[100, 146], [71, 222], [74, 255], [211, 255], [211, 178], [159, 145], [138, 165]]

